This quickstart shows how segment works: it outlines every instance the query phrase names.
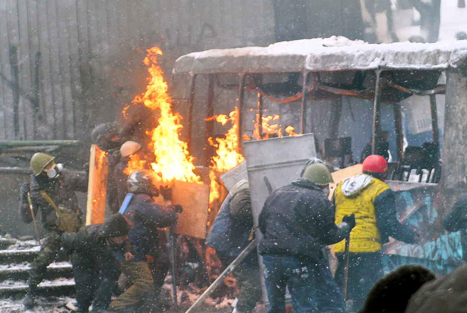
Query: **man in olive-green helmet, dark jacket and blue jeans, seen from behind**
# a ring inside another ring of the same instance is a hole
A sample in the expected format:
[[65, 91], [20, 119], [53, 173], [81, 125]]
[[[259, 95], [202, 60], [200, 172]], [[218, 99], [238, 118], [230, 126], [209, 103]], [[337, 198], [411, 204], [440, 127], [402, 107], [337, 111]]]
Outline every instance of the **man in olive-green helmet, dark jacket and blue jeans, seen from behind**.
[[303, 177], [276, 189], [259, 214], [268, 313], [285, 312], [288, 287], [296, 312], [343, 312], [344, 297], [332, 279], [323, 248], [341, 241], [355, 226], [353, 215], [334, 223], [335, 208], [325, 189], [332, 182], [324, 164], [307, 167]]

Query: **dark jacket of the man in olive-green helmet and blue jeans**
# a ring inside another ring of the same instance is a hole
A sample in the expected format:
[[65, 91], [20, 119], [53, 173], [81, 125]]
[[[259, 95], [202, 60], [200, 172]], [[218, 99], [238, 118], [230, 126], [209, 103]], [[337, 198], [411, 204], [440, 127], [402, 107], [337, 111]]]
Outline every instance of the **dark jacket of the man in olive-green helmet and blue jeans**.
[[350, 232], [347, 224], [343, 228], [335, 224], [335, 213], [325, 193], [309, 179], [299, 178], [276, 189], [259, 214], [263, 233], [259, 253], [320, 259], [324, 246]]

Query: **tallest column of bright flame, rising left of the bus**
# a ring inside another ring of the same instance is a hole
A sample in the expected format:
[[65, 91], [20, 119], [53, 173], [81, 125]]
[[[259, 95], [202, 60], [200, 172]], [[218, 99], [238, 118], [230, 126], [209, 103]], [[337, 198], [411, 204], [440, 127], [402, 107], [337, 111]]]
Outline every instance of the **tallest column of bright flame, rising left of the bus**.
[[[150, 148], [156, 156], [156, 162], [151, 163], [151, 167], [164, 182], [181, 180], [202, 183], [199, 176], [193, 173], [195, 169], [192, 163], [193, 157], [188, 153], [187, 144], [179, 139], [182, 129], [181, 116], [172, 112], [167, 83], [164, 82], [163, 72], [157, 62], [162, 51], [157, 47], [147, 51], [148, 55], [144, 59], [144, 64], [149, 66], [150, 82], [146, 87], [146, 92], [136, 96], [132, 102], [143, 103], [153, 110], [160, 111], [158, 126], [148, 133], [152, 137]], [[132, 159], [132, 162], [128, 163], [127, 172], [141, 169], [143, 165], [141, 160]]]

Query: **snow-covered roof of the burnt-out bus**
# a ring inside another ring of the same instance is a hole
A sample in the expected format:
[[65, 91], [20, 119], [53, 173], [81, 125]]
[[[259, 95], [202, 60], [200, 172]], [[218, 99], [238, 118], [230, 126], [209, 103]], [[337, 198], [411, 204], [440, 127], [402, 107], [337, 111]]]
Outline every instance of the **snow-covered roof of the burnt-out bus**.
[[366, 44], [333, 36], [193, 52], [177, 59], [174, 74], [446, 69], [466, 55], [467, 41]]

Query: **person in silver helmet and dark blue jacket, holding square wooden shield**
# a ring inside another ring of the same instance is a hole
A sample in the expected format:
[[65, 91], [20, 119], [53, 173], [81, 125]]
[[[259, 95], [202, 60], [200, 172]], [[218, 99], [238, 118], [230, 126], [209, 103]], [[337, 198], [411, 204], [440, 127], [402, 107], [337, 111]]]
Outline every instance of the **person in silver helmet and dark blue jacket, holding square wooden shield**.
[[130, 193], [126, 197], [129, 203], [125, 201], [120, 212], [131, 222], [128, 238], [134, 258], [130, 261], [122, 260], [121, 270], [133, 285], [112, 300], [109, 309], [113, 311], [134, 312], [143, 306], [156, 309], [157, 297], [168, 268], [163, 277], [157, 277], [158, 280], [154, 281], [146, 256], [154, 258], [159, 248], [160, 231], [157, 227], [174, 225], [178, 220], [177, 213], [181, 213], [180, 206], [161, 206], [154, 202], [153, 197], [158, 197], [161, 183], [161, 178], [148, 170], [134, 171], [128, 177]]

